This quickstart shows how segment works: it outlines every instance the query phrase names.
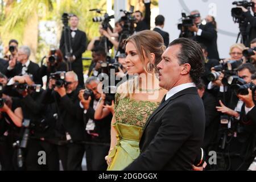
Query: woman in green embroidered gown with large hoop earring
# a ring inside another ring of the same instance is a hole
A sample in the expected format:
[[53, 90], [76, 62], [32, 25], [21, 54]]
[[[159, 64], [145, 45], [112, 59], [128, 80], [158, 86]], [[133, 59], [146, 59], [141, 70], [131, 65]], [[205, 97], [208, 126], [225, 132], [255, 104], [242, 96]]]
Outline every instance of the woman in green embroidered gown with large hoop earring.
[[166, 90], [158, 85], [156, 65], [166, 48], [154, 31], [138, 32], [126, 40], [127, 73], [136, 74], [115, 94], [111, 145], [106, 156], [108, 170], [122, 170], [139, 156], [139, 140], [148, 117], [162, 101]]

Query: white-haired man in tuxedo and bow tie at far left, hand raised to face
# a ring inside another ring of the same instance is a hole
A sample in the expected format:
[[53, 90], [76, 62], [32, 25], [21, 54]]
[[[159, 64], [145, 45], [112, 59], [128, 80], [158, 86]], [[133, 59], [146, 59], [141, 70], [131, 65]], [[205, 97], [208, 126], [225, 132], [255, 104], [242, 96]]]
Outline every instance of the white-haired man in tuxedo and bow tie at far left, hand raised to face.
[[43, 85], [42, 78], [38, 77], [39, 65], [29, 60], [31, 51], [28, 46], [21, 46], [18, 49], [17, 56], [9, 61], [9, 67], [6, 69], [7, 77], [30, 75], [35, 84]]

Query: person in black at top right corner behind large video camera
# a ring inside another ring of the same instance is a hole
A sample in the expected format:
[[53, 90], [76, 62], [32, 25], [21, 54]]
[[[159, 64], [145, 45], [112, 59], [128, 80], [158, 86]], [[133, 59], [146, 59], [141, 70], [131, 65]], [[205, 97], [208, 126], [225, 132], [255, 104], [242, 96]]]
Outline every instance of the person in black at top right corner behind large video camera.
[[242, 9], [243, 16], [245, 16], [246, 20], [249, 22], [249, 24], [248, 24], [249, 27], [246, 28], [247, 30], [249, 30], [249, 32], [247, 32], [248, 41], [245, 46], [249, 46], [249, 43], [251, 42], [251, 40], [253, 40], [256, 37], [256, 18], [255, 18], [256, 0], [251, 0], [251, 2], [254, 2], [254, 7], [251, 7], [251, 10], [253, 11], [254, 16], [251, 15], [250, 11], [248, 9], [246, 9], [245, 7], [237, 6]]

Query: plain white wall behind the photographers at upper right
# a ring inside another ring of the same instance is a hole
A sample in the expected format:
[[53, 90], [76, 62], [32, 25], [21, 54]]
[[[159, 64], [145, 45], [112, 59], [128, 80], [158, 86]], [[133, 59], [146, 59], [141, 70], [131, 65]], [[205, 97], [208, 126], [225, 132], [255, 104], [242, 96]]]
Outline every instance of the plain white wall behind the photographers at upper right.
[[189, 14], [192, 10], [199, 10], [201, 18], [208, 14], [216, 18], [218, 28], [218, 52], [220, 58], [229, 57], [229, 47], [236, 43], [239, 32], [238, 24], [233, 22], [231, 9], [233, 0], [159, 0], [160, 14], [166, 18], [164, 30], [170, 34], [170, 41], [179, 37], [177, 23], [181, 18], [181, 11]]

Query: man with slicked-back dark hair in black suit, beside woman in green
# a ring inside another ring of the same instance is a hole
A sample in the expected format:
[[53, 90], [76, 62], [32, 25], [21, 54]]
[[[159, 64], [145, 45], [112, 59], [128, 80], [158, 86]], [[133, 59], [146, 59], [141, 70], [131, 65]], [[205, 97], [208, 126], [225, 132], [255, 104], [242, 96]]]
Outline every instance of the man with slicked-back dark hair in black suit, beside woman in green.
[[204, 139], [204, 105], [195, 86], [204, 71], [203, 52], [191, 39], [176, 39], [157, 68], [168, 92], [144, 127], [141, 155], [125, 170], [191, 170]]

